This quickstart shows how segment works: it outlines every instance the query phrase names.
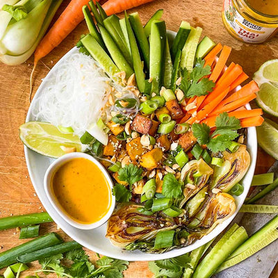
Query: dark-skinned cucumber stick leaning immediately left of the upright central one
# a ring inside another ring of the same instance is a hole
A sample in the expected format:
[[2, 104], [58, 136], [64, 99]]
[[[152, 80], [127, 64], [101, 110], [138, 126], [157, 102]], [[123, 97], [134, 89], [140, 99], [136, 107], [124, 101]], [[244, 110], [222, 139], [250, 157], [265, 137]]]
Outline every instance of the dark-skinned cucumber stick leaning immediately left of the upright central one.
[[147, 70], [149, 70], [149, 41], [147, 40], [147, 36], [142, 26], [139, 14], [131, 13], [131, 15], [129, 15], [129, 22], [134, 34], [136, 35], [136, 39], [142, 51], [142, 56], [144, 58]]

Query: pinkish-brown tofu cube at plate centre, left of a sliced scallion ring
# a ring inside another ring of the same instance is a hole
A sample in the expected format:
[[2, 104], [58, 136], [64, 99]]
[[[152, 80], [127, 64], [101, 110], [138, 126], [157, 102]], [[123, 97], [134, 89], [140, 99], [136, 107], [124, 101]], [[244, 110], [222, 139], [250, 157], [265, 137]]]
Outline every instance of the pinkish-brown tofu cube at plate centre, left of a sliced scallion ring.
[[156, 129], [158, 128], [158, 122], [149, 119], [148, 117], [137, 114], [134, 118], [131, 129], [142, 133], [154, 135], [156, 133]]

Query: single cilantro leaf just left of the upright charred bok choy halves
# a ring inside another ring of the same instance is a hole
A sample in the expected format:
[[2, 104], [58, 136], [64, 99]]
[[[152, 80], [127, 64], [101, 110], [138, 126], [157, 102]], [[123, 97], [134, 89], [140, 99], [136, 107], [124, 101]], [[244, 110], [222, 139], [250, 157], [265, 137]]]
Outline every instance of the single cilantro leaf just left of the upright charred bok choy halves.
[[174, 177], [174, 174], [166, 174], [163, 179], [162, 194], [167, 198], [178, 198], [181, 193], [181, 183]]

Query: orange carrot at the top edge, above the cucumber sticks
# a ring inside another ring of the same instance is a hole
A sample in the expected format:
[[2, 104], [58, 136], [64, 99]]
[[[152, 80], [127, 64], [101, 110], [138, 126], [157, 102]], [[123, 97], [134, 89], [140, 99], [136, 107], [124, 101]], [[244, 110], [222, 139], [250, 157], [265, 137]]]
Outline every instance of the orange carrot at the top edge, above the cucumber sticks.
[[102, 8], [104, 8], [107, 15], [113, 15], [114, 13], [121, 13], [123, 10], [129, 10], [151, 1], [153, 0], [108, 0], [102, 5]]

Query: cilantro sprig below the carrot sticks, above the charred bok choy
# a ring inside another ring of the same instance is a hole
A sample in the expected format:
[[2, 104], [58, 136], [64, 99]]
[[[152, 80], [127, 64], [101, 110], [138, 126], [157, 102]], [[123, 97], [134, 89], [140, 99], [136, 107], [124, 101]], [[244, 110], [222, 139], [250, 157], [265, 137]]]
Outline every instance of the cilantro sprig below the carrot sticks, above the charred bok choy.
[[192, 125], [193, 135], [200, 145], [207, 145], [211, 152], [223, 152], [238, 137], [237, 130], [241, 128], [240, 120], [229, 117], [225, 112], [216, 117], [215, 126], [215, 131], [210, 134], [211, 129], [207, 124], [195, 123]]

